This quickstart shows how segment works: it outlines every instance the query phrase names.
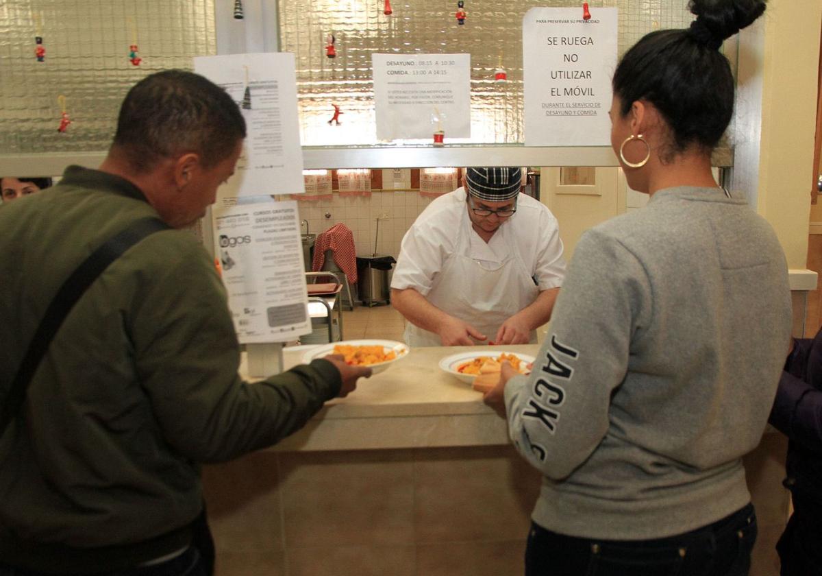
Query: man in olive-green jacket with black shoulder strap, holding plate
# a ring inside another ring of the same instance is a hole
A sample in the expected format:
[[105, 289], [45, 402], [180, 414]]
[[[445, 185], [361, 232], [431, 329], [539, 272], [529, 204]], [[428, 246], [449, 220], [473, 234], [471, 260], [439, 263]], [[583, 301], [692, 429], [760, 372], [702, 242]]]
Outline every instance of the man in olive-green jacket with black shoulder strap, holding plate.
[[275, 444], [371, 374], [329, 356], [238, 376], [213, 261], [175, 229], [215, 202], [245, 136], [219, 86], [158, 72], [128, 92], [99, 170], [0, 210], [0, 406], [62, 282], [134, 222], [168, 225], [76, 302], [2, 430], [2, 576], [208, 574], [199, 463]]

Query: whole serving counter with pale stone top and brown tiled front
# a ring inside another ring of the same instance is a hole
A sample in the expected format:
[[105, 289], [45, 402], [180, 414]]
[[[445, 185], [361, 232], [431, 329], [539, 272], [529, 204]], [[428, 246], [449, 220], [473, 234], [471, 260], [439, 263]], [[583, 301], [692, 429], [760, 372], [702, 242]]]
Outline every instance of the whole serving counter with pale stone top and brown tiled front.
[[[542, 478], [482, 395], [439, 368], [469, 350], [413, 349], [278, 446], [204, 467], [217, 576], [523, 574]], [[284, 367], [306, 351], [286, 348]], [[784, 449], [765, 434], [745, 459], [760, 527], [751, 576], [778, 574]]]

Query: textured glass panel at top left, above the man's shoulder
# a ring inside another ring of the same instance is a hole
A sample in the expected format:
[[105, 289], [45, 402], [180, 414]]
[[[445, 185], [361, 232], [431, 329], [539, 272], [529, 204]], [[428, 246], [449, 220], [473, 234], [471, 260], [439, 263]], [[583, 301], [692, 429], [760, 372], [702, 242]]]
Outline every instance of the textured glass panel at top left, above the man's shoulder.
[[0, 154], [105, 150], [136, 81], [214, 53], [210, 0], [0, 0]]

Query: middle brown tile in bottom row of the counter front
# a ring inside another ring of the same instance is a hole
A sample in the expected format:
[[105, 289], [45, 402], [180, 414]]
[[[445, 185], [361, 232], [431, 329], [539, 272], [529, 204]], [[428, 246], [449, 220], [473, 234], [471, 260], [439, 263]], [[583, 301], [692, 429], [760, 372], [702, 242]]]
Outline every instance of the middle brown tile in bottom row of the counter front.
[[289, 550], [289, 576], [415, 576], [413, 546], [334, 546]]

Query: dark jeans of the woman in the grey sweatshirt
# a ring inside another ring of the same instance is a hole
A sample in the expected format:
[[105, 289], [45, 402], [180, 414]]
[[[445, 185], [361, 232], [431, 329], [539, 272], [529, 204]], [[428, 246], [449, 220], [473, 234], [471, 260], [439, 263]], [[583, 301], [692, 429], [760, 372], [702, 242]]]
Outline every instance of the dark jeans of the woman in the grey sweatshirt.
[[525, 576], [746, 576], [756, 540], [754, 507], [654, 540], [591, 540], [531, 525]]

